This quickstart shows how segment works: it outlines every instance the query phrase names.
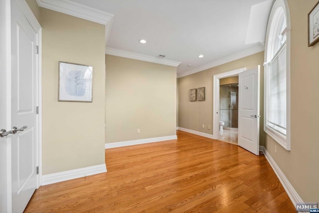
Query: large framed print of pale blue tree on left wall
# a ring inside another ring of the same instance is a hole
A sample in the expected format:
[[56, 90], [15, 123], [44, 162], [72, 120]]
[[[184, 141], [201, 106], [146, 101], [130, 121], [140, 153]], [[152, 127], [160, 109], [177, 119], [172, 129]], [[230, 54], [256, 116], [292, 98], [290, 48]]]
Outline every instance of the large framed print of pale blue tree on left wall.
[[92, 102], [93, 67], [59, 61], [58, 101]]

